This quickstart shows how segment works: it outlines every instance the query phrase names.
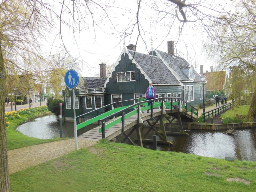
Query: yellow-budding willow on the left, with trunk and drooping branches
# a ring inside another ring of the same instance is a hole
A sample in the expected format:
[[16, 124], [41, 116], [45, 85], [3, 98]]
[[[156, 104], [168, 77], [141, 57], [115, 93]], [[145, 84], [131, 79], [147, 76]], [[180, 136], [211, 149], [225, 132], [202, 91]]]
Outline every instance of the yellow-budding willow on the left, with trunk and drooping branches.
[[[108, 7], [90, 0], [63, 0], [57, 8], [54, 3], [41, 0], [3, 0], [0, 3], [0, 191], [3, 192], [10, 191], [4, 113], [6, 76], [28, 74], [33, 81], [38, 80], [38, 77], [39, 81], [43, 76], [48, 77], [47, 74], [58, 66], [45, 59], [47, 57], [40, 52], [38, 39], [47, 38], [47, 32], [52, 33], [52, 29], [57, 29], [60, 41], [63, 42], [63, 26], [70, 27], [75, 34], [85, 28], [83, 26], [87, 25], [86, 18], [90, 19], [89, 23], [93, 27], [98, 25], [93, 17], [91, 4], [100, 7], [103, 12]], [[80, 12], [81, 6], [86, 11]], [[57, 22], [49, 20], [52, 18], [57, 19]], [[68, 48], [63, 46], [69, 54]], [[75, 60], [71, 54], [69, 56]], [[40, 70], [33, 62], [37, 60], [42, 64]], [[47, 79], [45, 82], [48, 82]]]

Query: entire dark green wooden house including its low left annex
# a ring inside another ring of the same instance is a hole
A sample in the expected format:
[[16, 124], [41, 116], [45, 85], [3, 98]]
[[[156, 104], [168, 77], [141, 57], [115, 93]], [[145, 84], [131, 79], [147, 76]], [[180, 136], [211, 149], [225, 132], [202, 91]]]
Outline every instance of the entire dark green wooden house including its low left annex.
[[[168, 52], [152, 48], [149, 54], [143, 54], [136, 52], [134, 46], [127, 47], [129, 49], [123, 49], [110, 77], [84, 78], [84, 88], [80, 87], [75, 91], [76, 116], [113, 102], [138, 98], [139, 94], [145, 97], [150, 82], [153, 83], [157, 98], [181, 97], [190, 105], [202, 104], [203, 90], [200, 75], [185, 59], [174, 55], [173, 41], [168, 42], [168, 47], [173, 48]], [[102, 64], [100, 65], [103, 71]], [[101, 76], [104, 76], [102, 72]], [[71, 90], [63, 91], [63, 97], [65, 116], [73, 117]], [[134, 102], [118, 103], [114, 107], [126, 106]], [[99, 114], [109, 110], [111, 107], [101, 110]], [[93, 112], [84, 118], [93, 118], [96, 115], [97, 113]]]

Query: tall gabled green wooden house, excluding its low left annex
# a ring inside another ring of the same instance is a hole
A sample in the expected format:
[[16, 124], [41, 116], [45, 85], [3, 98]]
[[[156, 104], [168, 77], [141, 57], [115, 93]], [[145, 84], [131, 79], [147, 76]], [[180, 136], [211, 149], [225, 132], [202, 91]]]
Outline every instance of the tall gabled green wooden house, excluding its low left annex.
[[145, 97], [152, 82], [157, 97], [181, 97], [191, 105], [201, 104], [200, 75], [185, 59], [174, 55], [173, 41], [167, 43], [167, 52], [152, 48], [143, 54], [136, 52], [133, 45], [124, 48], [105, 83], [107, 103], [135, 99], [141, 93]]

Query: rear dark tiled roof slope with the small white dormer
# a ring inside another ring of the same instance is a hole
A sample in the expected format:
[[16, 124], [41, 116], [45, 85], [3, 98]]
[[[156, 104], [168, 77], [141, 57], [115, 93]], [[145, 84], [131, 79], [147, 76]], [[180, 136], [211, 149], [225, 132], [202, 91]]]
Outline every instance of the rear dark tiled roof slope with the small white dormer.
[[[163, 57], [163, 60], [167, 63], [167, 65], [172, 68], [178, 76], [183, 81], [190, 81], [190, 79], [186, 76], [186, 74], [182, 71], [183, 68], [189, 67], [189, 63], [182, 57], [174, 57], [172, 54], [168, 54], [167, 52], [156, 50], [158, 54]], [[194, 81], [201, 81], [200, 75], [194, 71]]]

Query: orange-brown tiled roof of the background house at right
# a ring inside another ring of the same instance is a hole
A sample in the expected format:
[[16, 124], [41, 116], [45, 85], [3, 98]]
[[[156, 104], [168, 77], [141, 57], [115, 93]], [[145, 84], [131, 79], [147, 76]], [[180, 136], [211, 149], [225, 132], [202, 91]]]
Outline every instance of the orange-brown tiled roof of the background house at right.
[[204, 73], [204, 75], [206, 76], [207, 81], [205, 86], [207, 91], [223, 90], [226, 79], [226, 71], [207, 72]]

